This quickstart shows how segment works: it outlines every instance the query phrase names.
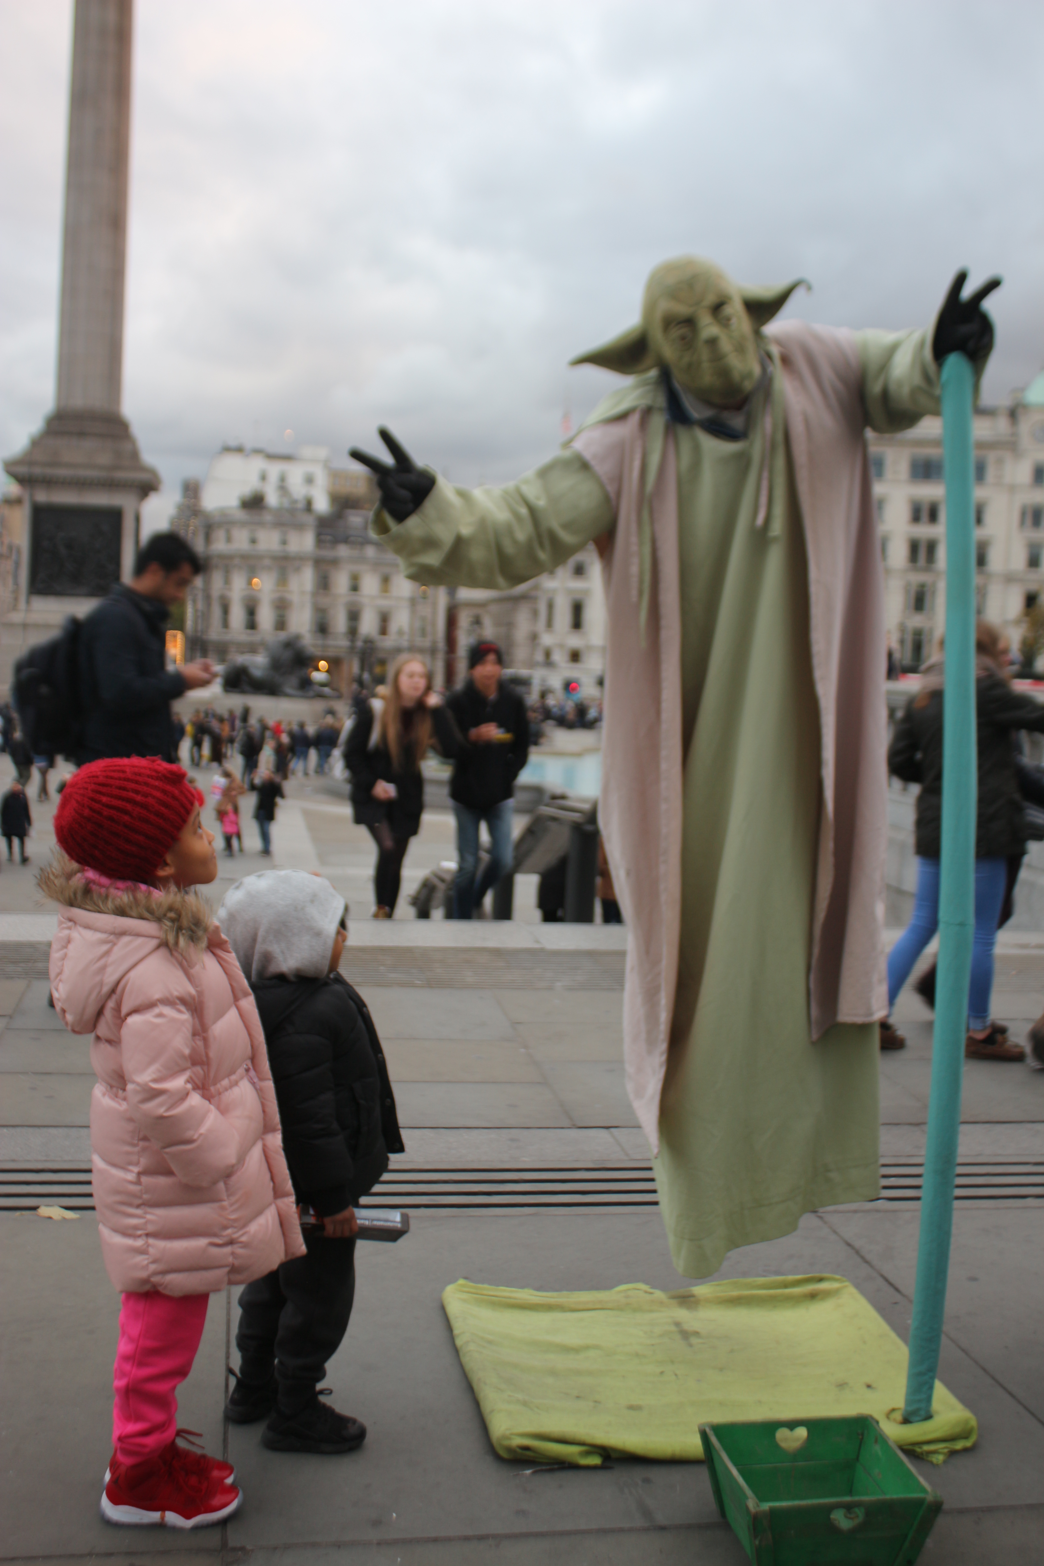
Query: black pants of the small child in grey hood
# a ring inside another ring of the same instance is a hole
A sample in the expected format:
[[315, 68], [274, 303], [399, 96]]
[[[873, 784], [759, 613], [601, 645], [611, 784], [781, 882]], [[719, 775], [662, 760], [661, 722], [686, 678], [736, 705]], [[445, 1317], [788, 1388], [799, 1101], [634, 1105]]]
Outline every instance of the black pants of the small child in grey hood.
[[275, 1364], [279, 1406], [296, 1413], [315, 1397], [341, 1347], [355, 1298], [355, 1240], [305, 1236], [307, 1256], [255, 1278], [239, 1295], [239, 1373], [268, 1381]]

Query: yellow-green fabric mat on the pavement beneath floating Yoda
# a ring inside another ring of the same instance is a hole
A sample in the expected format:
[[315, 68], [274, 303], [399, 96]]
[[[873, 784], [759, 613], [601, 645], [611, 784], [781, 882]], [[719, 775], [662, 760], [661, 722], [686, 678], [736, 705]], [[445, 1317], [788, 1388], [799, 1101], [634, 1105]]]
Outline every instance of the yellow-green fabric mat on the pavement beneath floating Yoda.
[[934, 1417], [900, 1422], [906, 1347], [845, 1278], [739, 1278], [675, 1294], [462, 1279], [443, 1306], [502, 1458], [693, 1463], [700, 1423], [873, 1414], [897, 1445], [942, 1463], [978, 1431], [941, 1381]]

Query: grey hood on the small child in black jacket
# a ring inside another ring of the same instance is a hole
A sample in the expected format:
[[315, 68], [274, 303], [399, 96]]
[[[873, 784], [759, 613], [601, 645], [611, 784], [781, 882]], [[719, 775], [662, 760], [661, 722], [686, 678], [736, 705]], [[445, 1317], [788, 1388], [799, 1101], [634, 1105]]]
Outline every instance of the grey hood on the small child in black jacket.
[[230, 886], [218, 924], [249, 983], [324, 979], [344, 899], [307, 871], [260, 871]]

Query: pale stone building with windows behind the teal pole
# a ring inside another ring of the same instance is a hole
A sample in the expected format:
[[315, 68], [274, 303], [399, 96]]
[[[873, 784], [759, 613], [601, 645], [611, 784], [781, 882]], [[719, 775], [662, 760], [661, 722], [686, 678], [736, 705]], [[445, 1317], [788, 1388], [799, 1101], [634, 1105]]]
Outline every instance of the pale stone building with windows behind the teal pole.
[[[931, 656], [945, 620], [942, 420], [869, 437], [886, 625], [903, 669]], [[1044, 371], [1006, 407], [975, 410], [977, 611], [1017, 648], [1044, 597]]]

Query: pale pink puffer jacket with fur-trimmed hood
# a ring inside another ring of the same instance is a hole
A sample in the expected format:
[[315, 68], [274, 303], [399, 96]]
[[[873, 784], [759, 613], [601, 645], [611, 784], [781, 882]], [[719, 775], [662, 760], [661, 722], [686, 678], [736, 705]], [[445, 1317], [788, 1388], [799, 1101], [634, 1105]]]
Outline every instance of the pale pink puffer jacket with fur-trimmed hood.
[[121, 1292], [214, 1294], [304, 1254], [265, 1035], [200, 897], [100, 889], [58, 860], [55, 1009], [94, 1032], [94, 1203]]

